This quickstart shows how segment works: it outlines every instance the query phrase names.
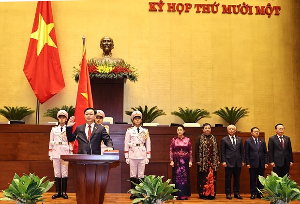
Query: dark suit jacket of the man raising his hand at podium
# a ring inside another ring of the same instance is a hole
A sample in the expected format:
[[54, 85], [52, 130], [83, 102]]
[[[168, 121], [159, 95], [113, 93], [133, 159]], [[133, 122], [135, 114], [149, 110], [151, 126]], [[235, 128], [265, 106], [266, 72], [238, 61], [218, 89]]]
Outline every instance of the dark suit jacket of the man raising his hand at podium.
[[67, 126], [67, 138], [69, 142], [78, 140], [78, 154], [101, 154], [101, 141], [107, 147], [112, 147], [113, 142], [107, 134], [105, 127], [95, 123], [94, 128], [91, 132], [90, 141], [88, 141], [87, 135], [85, 133], [86, 124], [79, 125], [76, 127], [74, 133], [72, 133], [73, 127]]

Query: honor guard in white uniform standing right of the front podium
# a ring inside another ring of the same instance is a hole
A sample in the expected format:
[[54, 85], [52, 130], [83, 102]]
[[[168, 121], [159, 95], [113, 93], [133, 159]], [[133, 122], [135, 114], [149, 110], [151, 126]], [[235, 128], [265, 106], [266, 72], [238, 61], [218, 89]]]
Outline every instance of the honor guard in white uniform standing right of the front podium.
[[[130, 167], [130, 180], [137, 184], [140, 183], [137, 178], [144, 178], [145, 165], [149, 163], [151, 157], [149, 131], [141, 127], [142, 117], [140, 111], [134, 111], [131, 114], [134, 127], [127, 129], [124, 141], [124, 154], [126, 163]], [[135, 188], [133, 183], [131, 183], [131, 188]], [[131, 194], [130, 199], [135, 198], [136, 196]]]

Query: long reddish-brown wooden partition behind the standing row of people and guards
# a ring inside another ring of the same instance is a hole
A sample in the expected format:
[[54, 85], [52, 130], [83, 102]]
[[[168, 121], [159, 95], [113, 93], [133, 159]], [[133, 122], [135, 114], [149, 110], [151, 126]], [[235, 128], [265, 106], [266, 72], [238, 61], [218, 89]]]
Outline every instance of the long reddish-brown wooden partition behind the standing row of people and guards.
[[[110, 166], [108, 175], [107, 193], [126, 193], [130, 189], [129, 165], [124, 159], [124, 137], [131, 124], [110, 124], [110, 136], [115, 149], [120, 151], [119, 162]], [[51, 125], [3, 125], [0, 124], [0, 189], [6, 189], [15, 172], [35, 173], [47, 176], [54, 180], [52, 162], [48, 157], [49, 133]], [[170, 141], [176, 136], [176, 127], [148, 127], [151, 139], [151, 159], [146, 165], [146, 175], [165, 175], [172, 178], [172, 168], [169, 165]], [[201, 128], [186, 128], [186, 136], [192, 141], [193, 167], [190, 169], [192, 193], [196, 193], [197, 166], [195, 163], [195, 140], [202, 133]], [[220, 145], [221, 139], [227, 135], [226, 128], [213, 128], [212, 134], [216, 136]], [[250, 137], [249, 132], [237, 132], [243, 142]], [[264, 138], [264, 133], [260, 133]], [[294, 152], [294, 165], [290, 168], [292, 179], [300, 183], [300, 152]], [[266, 169], [265, 175], [270, 174], [272, 168]], [[72, 165], [69, 166], [68, 192], [75, 192]], [[225, 192], [225, 169], [220, 165], [217, 172], [217, 193]], [[54, 192], [54, 187], [50, 192]], [[249, 193], [249, 170], [244, 166], [240, 176], [240, 193]], [[129, 195], [128, 195], [129, 196]]]

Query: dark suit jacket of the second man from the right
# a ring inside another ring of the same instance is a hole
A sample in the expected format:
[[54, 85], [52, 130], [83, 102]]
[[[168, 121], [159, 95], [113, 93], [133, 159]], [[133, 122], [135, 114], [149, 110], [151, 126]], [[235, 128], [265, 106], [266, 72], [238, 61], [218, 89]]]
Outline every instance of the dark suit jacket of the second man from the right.
[[266, 142], [257, 138], [258, 148], [252, 137], [245, 141], [245, 158], [246, 165], [251, 165], [251, 168], [265, 168], [265, 164], [268, 164], [268, 151]]

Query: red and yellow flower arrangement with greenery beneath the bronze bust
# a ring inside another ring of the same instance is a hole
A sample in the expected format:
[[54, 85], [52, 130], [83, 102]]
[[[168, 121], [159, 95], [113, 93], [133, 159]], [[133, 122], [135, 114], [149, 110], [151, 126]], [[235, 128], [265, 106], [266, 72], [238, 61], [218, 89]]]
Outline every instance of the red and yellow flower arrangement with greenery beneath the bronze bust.
[[[109, 62], [109, 61], [96, 61], [89, 59], [87, 61], [90, 78], [102, 79], [122, 79], [128, 78], [132, 82], [136, 82], [138, 75], [135, 67], [125, 62]], [[74, 66], [74, 79], [78, 83], [81, 62], [79, 68]]]

